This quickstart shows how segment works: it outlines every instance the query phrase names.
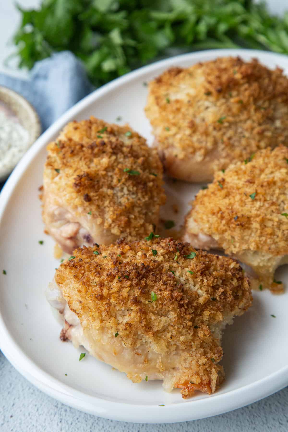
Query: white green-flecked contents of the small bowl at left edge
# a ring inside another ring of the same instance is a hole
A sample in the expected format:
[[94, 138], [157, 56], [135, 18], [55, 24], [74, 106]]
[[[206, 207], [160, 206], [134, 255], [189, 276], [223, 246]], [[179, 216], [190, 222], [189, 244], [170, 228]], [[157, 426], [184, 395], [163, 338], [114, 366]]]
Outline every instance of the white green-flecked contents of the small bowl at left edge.
[[0, 102], [0, 179], [7, 176], [28, 149], [29, 133]]

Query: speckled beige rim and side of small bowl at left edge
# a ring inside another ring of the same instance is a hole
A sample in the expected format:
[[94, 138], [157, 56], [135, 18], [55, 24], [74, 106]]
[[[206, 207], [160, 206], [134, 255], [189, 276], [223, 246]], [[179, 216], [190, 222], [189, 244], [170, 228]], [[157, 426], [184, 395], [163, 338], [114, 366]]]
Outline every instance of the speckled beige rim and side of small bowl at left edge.
[[[27, 130], [29, 135], [26, 148], [28, 149], [41, 134], [41, 123], [37, 112], [23, 96], [4, 86], [0, 86], [0, 103], [1, 102], [16, 115], [20, 124]], [[19, 160], [20, 159], [21, 157], [19, 157]], [[12, 169], [15, 168], [16, 164]], [[7, 168], [6, 171], [0, 172], [0, 181], [5, 180], [12, 169]]]

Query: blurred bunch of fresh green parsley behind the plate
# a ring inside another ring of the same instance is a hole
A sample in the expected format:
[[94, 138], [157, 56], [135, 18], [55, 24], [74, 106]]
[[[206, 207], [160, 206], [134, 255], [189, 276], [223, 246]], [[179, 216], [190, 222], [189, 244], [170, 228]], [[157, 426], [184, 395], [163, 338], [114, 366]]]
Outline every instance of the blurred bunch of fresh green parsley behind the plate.
[[19, 67], [70, 50], [95, 86], [174, 54], [173, 48], [288, 53], [288, 13], [272, 16], [252, 0], [44, 0], [39, 10], [17, 7]]

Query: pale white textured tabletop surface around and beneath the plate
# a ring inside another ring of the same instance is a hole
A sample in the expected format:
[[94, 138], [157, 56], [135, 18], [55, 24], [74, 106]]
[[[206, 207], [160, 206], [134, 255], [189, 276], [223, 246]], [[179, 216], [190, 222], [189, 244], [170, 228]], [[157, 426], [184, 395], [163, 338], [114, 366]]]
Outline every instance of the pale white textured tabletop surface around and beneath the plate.
[[[270, 0], [272, 10], [281, 13], [286, 0]], [[0, 71], [25, 76], [3, 67], [13, 52], [6, 41], [13, 34], [19, 16], [12, 0], [0, 0]], [[20, 0], [35, 6], [39, 0]], [[149, 412], [147, 413], [149, 416]], [[23, 378], [0, 352], [1, 432], [287, 432], [288, 388], [248, 407], [209, 419], [162, 425], [143, 425], [101, 419], [66, 407], [39, 391]]]

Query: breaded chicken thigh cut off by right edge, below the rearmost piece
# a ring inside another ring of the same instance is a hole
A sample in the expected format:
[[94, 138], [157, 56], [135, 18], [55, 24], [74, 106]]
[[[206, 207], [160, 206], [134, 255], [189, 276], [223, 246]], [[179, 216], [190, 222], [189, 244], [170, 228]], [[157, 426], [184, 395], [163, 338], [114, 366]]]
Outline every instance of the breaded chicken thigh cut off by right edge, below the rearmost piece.
[[[253, 287], [281, 292], [277, 267], [288, 263], [288, 148], [264, 149], [217, 172], [186, 217], [184, 240], [218, 248], [252, 267]], [[261, 287], [261, 288], [262, 288]]]

